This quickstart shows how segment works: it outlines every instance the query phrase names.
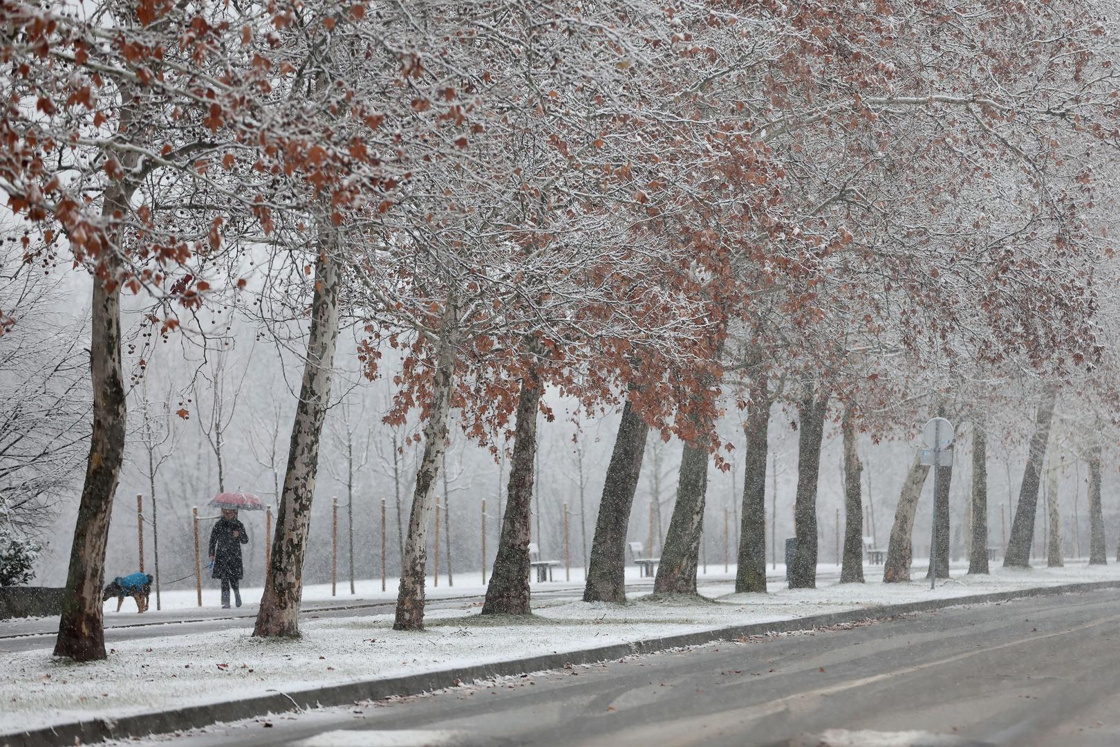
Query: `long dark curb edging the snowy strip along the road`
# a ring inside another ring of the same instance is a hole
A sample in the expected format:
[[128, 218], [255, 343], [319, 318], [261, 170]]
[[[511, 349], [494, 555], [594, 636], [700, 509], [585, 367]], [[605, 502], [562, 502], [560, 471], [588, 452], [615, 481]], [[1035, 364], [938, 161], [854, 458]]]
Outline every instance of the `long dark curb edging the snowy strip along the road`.
[[454, 687], [456, 681], [469, 683], [475, 680], [488, 680], [495, 676], [562, 669], [567, 664], [594, 664], [596, 662], [623, 659], [635, 654], [701, 645], [715, 641], [764, 635], [767, 633], [786, 633], [791, 631], [830, 627], [842, 623], [930, 611], [962, 605], [1007, 601], [1025, 597], [1051, 597], [1063, 594], [1116, 588], [1120, 588], [1120, 581], [1090, 581], [1018, 589], [1015, 591], [980, 594], [953, 599], [928, 599], [902, 605], [865, 607], [861, 609], [776, 620], [773, 623], [755, 623], [715, 631], [698, 631], [696, 633], [684, 633], [663, 638], [648, 638], [632, 643], [599, 646], [597, 648], [586, 648], [561, 654], [544, 654], [461, 669], [423, 672], [421, 674], [408, 674], [382, 680], [345, 682], [287, 693], [277, 691], [276, 694], [258, 695], [255, 698], [245, 698], [208, 706], [189, 706], [155, 713], [139, 713], [119, 719], [99, 718], [72, 721], [69, 723], [58, 723], [53, 727], [44, 727], [29, 731], [3, 734], [0, 735], [0, 745], [4, 745], [6, 747], [62, 746], [90, 744], [105, 739], [144, 737], [151, 734], [165, 734], [209, 726], [217, 721], [236, 721], [254, 716], [281, 713], [318, 706], [344, 706], [358, 700], [377, 700], [390, 695], [414, 695]]

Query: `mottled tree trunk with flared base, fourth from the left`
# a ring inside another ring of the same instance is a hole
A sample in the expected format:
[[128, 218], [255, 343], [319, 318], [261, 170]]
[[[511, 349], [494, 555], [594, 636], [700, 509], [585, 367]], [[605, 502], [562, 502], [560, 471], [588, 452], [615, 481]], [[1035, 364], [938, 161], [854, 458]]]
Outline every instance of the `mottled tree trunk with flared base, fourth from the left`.
[[536, 413], [541, 403], [541, 383], [532, 373], [521, 382], [517, 421], [514, 430], [513, 460], [506, 486], [505, 517], [498, 538], [494, 572], [486, 587], [483, 615], [528, 615], [529, 543], [532, 540], [534, 460], [536, 458]]

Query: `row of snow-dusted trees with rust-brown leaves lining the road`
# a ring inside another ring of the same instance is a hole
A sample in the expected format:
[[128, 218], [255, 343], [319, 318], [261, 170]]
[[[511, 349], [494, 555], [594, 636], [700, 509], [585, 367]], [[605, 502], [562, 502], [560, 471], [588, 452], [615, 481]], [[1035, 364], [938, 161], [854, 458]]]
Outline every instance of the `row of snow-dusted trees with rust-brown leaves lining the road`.
[[[93, 427], [56, 653], [105, 655], [122, 345], [142, 380], [165, 342], [221, 336], [234, 312], [304, 361], [260, 636], [299, 631], [344, 327], [368, 377], [400, 355], [386, 421], [421, 423], [399, 629], [423, 624], [452, 410], [475, 440], [512, 440], [484, 613], [529, 611], [545, 391], [622, 407], [587, 600], [625, 599], [651, 432], [685, 443], [655, 590], [696, 591], [729, 408], [747, 417], [737, 587], [762, 591], [775, 407], [796, 411], [804, 587], [830, 415], [853, 445], [967, 393], [990, 428], [1000, 396], [1040, 389], [1007, 561], [1025, 563], [1049, 382], [1117, 411], [1100, 324], [1116, 19], [1092, 0], [874, 6], [0, 0], [10, 239], [27, 272], [73, 261], [95, 278]], [[122, 293], [149, 307], [134, 336]]]

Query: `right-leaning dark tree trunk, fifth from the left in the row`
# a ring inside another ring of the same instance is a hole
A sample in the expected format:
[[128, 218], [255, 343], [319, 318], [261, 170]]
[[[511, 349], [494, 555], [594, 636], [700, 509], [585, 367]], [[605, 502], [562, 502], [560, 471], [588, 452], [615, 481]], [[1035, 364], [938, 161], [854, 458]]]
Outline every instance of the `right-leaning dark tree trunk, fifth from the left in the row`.
[[650, 427], [627, 400], [603, 484], [584, 601], [626, 601], [626, 526], [648, 433]]

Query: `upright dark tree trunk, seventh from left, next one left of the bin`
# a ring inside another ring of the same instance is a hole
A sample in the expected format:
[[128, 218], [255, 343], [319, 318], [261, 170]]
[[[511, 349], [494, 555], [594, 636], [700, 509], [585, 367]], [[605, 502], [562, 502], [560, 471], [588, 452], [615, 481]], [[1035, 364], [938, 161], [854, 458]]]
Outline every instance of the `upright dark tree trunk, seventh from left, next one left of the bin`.
[[766, 594], [766, 452], [769, 448], [771, 400], [765, 385], [755, 387], [747, 412], [747, 456], [743, 478], [743, 524], [739, 532], [735, 590]]

